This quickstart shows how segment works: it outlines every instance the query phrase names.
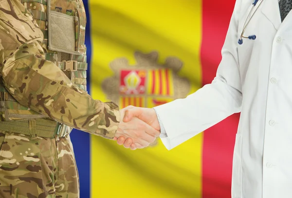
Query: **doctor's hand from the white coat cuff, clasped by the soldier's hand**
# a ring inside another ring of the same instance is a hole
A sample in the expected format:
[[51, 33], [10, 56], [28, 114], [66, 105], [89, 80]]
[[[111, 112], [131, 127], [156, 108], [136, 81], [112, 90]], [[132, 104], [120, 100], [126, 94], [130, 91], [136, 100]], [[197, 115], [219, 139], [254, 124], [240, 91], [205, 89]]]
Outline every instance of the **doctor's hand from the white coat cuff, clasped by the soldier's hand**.
[[[153, 108], [138, 108], [133, 106], [128, 106], [123, 110], [126, 111], [124, 115], [123, 122], [130, 123], [132, 119], [136, 119], [135, 117], [141, 119], [149, 126], [152, 126], [154, 129], [160, 131], [160, 125], [156, 116], [156, 112]], [[122, 117], [122, 115], [121, 115]], [[157, 136], [158, 137], [158, 136]], [[116, 138], [114, 138], [116, 140]], [[124, 144], [124, 147], [131, 148], [135, 150], [136, 148], [140, 148], [139, 144], [136, 144], [131, 138], [120, 136], [117, 138], [118, 144]]]

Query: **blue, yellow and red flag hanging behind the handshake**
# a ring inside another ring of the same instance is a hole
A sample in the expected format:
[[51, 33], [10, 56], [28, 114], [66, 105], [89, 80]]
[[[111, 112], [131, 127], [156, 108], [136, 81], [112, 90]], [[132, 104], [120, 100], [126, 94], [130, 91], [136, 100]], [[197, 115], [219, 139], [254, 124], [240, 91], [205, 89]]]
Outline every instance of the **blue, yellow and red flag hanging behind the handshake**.
[[[168, 96], [175, 94], [173, 72], [167, 68], [138, 70], [134, 66], [136, 51], [156, 51], [161, 65], [170, 56], [180, 59], [183, 67], [178, 75], [190, 84], [187, 94], [210, 83], [221, 59], [234, 4], [235, 0], [84, 0], [90, 94], [109, 101], [102, 83], [115, 75], [110, 63], [124, 57], [133, 67], [119, 75], [140, 76], [128, 83], [140, 83], [141, 87], [136, 96], [117, 91], [120, 107], [151, 108], [171, 101]], [[120, 90], [128, 89], [125, 82], [117, 82]], [[71, 139], [80, 197], [230, 198], [238, 117], [230, 116], [170, 151], [160, 140], [152, 147], [131, 151], [114, 141], [74, 130]]]

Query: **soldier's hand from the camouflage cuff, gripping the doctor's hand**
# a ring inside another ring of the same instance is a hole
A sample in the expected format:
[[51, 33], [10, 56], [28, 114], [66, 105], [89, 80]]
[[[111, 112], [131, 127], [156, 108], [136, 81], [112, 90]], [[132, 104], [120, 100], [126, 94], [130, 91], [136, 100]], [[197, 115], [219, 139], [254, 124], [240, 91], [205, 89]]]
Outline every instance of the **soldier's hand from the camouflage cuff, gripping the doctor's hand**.
[[[132, 116], [130, 119], [126, 119], [127, 123], [124, 122], [122, 119], [125, 119], [125, 111], [126, 108], [120, 110], [121, 121], [113, 140], [123, 137], [122, 139], [124, 139], [124, 141], [122, 144], [127, 148], [131, 144], [134, 144], [135, 149], [144, 148], [154, 142], [156, 137], [160, 135], [160, 131], [149, 126], [146, 122], [143, 122], [137, 117]], [[128, 140], [125, 141], [127, 138]], [[122, 141], [118, 142], [118, 144], [121, 144], [121, 142]]]

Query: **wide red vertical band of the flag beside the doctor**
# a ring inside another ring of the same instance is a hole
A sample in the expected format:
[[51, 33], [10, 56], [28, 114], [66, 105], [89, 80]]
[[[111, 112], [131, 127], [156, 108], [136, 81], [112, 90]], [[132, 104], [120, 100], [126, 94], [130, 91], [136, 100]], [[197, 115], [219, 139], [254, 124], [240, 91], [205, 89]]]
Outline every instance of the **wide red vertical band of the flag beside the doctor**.
[[[202, 84], [211, 83], [221, 60], [235, 0], [202, 2]], [[238, 114], [231, 116], [204, 132], [202, 159], [202, 197], [230, 198], [232, 158]]]

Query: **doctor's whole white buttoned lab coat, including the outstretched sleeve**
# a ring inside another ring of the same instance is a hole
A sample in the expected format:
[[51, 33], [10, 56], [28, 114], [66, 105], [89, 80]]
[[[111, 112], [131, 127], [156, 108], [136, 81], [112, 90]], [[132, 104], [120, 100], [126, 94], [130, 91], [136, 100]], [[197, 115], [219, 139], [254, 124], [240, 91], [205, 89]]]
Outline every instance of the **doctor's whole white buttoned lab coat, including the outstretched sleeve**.
[[244, 34], [256, 40], [239, 45], [252, 1], [235, 4], [213, 82], [155, 109], [167, 149], [241, 111], [232, 198], [292, 198], [292, 12], [281, 23], [278, 0], [263, 0]]

